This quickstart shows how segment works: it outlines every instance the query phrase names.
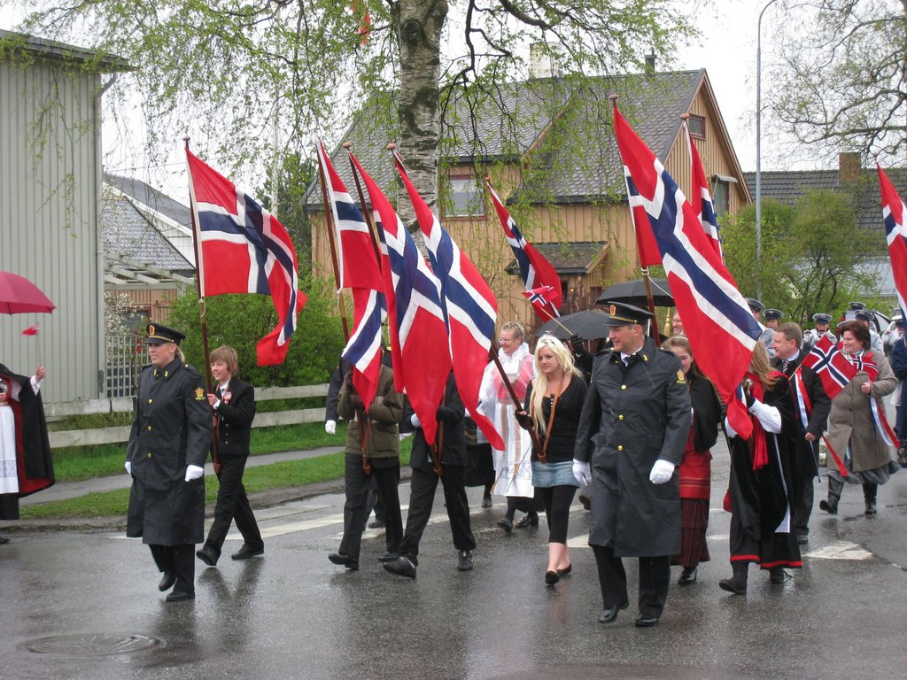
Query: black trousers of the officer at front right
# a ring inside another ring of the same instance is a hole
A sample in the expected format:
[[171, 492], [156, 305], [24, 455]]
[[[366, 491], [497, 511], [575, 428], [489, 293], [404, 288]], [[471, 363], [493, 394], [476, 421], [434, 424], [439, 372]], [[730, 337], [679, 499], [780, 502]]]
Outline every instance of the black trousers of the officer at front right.
[[[595, 562], [599, 567], [601, 601], [604, 608], [619, 607], [629, 602], [627, 572], [623, 561], [614, 555], [614, 549], [592, 546]], [[670, 557], [639, 558], [639, 613], [660, 617], [668, 600], [671, 579]]]

